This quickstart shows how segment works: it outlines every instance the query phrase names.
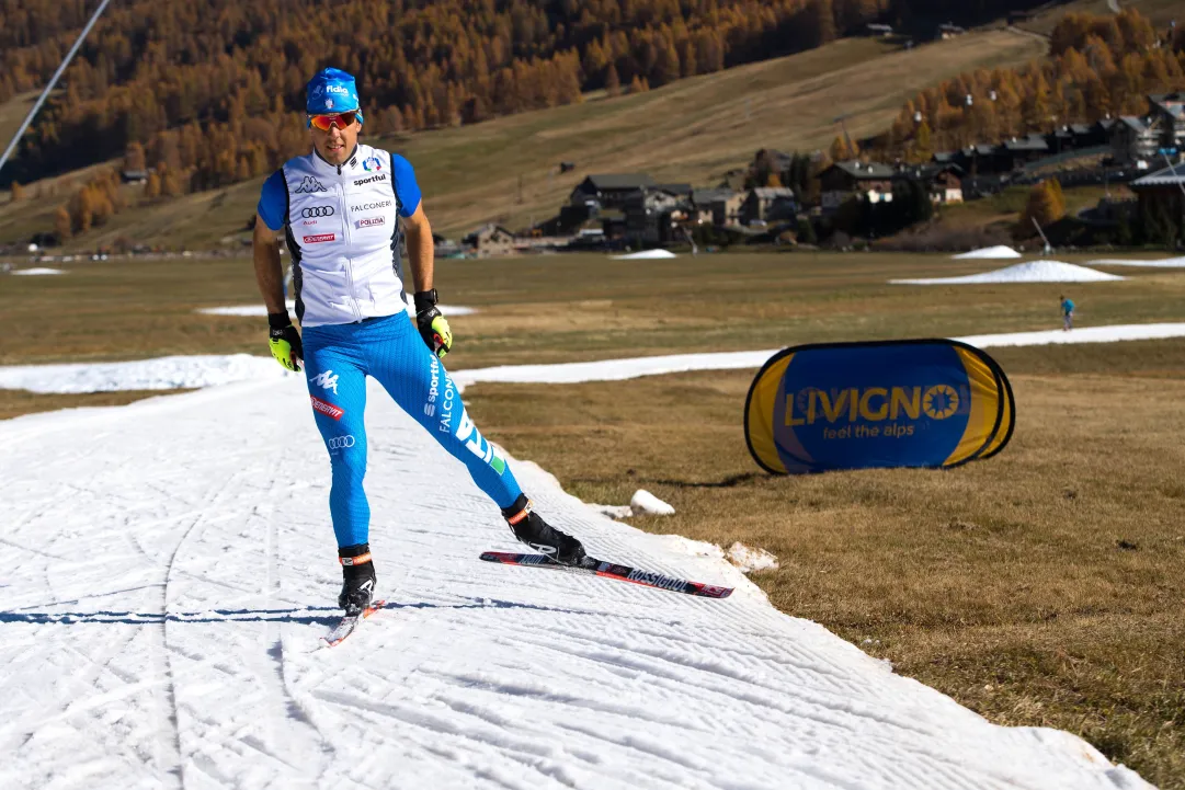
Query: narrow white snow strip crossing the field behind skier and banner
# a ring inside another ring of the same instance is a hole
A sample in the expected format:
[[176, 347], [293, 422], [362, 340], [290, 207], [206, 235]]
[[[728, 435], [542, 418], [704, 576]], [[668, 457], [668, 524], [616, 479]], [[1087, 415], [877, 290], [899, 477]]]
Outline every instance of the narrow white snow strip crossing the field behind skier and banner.
[[[993, 346], [1048, 346], [1122, 340], [1185, 338], [1185, 323], [1126, 323], [1084, 327], [1074, 332], [1045, 329], [955, 338], [979, 348]], [[779, 348], [606, 359], [598, 362], [558, 365], [502, 365], [451, 372], [459, 388], [479, 381], [505, 384], [579, 384], [622, 381], [643, 375], [688, 371], [735, 371], [758, 368]], [[270, 380], [293, 375], [270, 357], [164, 357], [135, 362], [70, 365], [18, 365], [0, 367], [0, 388], [41, 393], [113, 392], [116, 390], [199, 388], [232, 381]]]

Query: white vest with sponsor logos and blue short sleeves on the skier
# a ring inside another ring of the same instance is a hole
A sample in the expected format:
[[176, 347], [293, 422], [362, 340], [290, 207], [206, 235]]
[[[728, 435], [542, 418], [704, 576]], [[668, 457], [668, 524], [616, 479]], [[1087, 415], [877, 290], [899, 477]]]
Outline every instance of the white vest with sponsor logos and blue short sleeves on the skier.
[[271, 230], [284, 227], [302, 327], [406, 309], [398, 218], [418, 206], [408, 160], [361, 143], [340, 166], [310, 153], [264, 182], [260, 216]]

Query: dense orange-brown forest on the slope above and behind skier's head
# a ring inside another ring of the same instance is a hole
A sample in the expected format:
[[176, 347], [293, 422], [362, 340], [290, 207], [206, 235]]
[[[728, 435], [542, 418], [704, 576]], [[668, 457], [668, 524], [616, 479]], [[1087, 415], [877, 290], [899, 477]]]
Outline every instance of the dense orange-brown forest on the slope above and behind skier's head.
[[[98, 0], [0, 9], [0, 102], [44, 84]], [[353, 72], [371, 133], [476, 123], [787, 54], [866, 23], [985, 20], [1031, 0], [127, 0], [113, 4], [0, 186], [139, 143], [182, 191], [303, 152], [280, 123], [324, 65]]]

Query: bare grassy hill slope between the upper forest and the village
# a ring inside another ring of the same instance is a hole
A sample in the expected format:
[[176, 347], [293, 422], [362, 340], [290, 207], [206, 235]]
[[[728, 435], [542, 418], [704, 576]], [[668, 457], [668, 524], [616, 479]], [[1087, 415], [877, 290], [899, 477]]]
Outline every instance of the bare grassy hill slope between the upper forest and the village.
[[[853, 136], [875, 133], [908, 97], [936, 81], [1023, 63], [1043, 51], [1039, 39], [1007, 31], [909, 52], [873, 39], [844, 39], [645, 94], [590, 96], [583, 104], [374, 144], [411, 160], [435, 230], [460, 238], [485, 221], [518, 227], [555, 216], [589, 173], [640, 169], [659, 180], [705, 186], [743, 167], [758, 148], [826, 147], [839, 134], [837, 108], [847, 114]], [[575, 162], [576, 171], [556, 175], [561, 161]], [[171, 249], [233, 244], [255, 213], [261, 182], [124, 211], [69, 248], [95, 249], [120, 236]], [[51, 231], [56, 207], [52, 200], [5, 206], [0, 243]]]

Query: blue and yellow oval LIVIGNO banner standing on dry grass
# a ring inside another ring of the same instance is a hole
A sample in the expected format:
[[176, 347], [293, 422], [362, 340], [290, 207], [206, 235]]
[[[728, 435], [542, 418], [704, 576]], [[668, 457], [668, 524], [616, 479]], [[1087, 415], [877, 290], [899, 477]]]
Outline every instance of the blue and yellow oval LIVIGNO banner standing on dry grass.
[[1004, 371], [955, 340], [782, 349], [744, 411], [749, 451], [775, 474], [956, 467], [1003, 450], [1016, 423]]

